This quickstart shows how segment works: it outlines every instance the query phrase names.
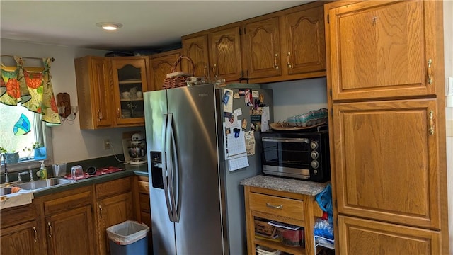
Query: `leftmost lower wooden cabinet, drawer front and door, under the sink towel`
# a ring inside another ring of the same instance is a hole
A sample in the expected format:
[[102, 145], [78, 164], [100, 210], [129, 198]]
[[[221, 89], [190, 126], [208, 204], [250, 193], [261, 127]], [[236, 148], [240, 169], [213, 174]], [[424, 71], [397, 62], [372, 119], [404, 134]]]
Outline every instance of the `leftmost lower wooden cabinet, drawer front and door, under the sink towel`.
[[1, 210], [0, 254], [44, 253], [44, 237], [38, 233], [37, 211], [35, 204]]

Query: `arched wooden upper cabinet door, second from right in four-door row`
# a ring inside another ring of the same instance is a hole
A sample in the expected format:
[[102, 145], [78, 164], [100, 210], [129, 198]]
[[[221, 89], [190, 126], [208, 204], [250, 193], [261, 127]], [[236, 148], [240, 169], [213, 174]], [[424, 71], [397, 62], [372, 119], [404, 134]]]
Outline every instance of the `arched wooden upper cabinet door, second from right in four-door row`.
[[244, 24], [242, 55], [249, 79], [282, 74], [278, 17]]

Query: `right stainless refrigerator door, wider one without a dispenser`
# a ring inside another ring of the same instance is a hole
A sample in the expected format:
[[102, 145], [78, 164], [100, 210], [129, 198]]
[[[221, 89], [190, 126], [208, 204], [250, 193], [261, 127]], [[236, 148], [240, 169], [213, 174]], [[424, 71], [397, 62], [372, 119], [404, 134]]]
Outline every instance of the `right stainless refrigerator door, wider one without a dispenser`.
[[176, 253], [224, 254], [214, 86], [168, 89], [167, 98], [178, 158]]

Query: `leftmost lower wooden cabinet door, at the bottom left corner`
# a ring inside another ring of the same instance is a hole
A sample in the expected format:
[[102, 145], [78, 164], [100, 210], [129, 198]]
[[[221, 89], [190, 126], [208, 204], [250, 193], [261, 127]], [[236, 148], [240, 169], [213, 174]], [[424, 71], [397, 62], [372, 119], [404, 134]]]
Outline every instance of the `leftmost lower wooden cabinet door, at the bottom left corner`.
[[35, 220], [1, 229], [1, 254], [40, 254], [43, 240], [38, 238], [37, 227]]

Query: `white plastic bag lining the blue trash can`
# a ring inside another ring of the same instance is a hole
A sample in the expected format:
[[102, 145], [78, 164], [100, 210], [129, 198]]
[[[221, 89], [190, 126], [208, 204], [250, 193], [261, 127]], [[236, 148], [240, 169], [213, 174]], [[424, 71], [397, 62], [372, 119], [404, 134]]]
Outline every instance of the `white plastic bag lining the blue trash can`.
[[149, 227], [134, 220], [126, 220], [120, 224], [108, 227], [106, 230], [108, 239], [112, 240], [112, 242], [127, 245], [146, 237]]

